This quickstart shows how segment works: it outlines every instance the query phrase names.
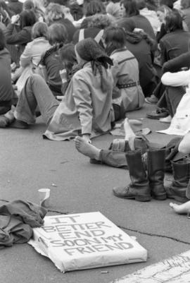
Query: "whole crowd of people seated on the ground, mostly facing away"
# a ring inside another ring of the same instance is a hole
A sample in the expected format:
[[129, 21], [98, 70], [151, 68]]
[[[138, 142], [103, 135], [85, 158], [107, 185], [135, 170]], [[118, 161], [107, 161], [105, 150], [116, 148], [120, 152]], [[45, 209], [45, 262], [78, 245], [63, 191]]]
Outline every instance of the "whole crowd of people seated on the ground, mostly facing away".
[[[0, 0], [0, 127], [29, 128], [42, 116], [44, 138], [75, 139], [91, 163], [129, 169], [132, 182], [114, 195], [186, 202], [190, 121], [178, 107], [190, 103], [189, 28], [189, 0]], [[150, 119], [180, 118], [184, 138], [155, 149], [137, 136], [127, 112], [144, 103], [157, 104]], [[91, 145], [121, 119], [125, 139]]]

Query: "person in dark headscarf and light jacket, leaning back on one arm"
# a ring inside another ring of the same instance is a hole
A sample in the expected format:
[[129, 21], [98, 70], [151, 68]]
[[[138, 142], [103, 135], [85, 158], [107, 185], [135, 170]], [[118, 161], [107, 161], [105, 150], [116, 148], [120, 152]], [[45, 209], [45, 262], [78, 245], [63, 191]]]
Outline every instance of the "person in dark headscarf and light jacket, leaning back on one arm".
[[80, 68], [72, 76], [60, 104], [40, 76], [31, 76], [15, 112], [1, 116], [0, 126], [27, 128], [34, 124], [38, 106], [48, 125], [44, 136], [51, 140], [70, 140], [80, 134], [90, 142], [94, 136], [110, 131], [114, 120], [113, 78], [108, 66], [113, 62], [91, 38], [77, 43], [75, 53]]

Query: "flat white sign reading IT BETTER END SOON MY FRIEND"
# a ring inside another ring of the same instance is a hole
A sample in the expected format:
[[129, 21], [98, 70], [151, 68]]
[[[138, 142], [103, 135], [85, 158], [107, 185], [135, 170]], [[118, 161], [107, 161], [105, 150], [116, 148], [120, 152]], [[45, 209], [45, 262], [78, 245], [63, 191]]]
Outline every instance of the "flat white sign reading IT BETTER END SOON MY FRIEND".
[[146, 261], [147, 251], [100, 212], [56, 215], [28, 243], [62, 272]]

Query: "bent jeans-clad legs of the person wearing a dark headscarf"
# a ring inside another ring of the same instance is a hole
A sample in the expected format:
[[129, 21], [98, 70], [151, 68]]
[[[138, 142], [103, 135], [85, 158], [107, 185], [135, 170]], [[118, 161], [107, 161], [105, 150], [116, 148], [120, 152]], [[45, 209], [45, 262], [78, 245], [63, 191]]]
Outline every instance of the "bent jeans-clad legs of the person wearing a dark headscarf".
[[32, 75], [27, 79], [20, 93], [15, 108], [15, 118], [27, 124], [36, 121], [35, 110], [38, 107], [42, 119], [49, 124], [59, 105], [44, 79], [39, 75]]

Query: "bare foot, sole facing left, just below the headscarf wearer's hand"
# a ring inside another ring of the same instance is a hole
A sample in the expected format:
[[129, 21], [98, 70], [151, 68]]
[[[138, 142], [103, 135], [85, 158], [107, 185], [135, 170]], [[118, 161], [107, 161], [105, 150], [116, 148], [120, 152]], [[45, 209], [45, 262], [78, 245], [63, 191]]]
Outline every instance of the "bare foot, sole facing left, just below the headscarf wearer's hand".
[[90, 143], [87, 143], [87, 141], [85, 141], [84, 138], [81, 138], [80, 136], [77, 136], [74, 141], [75, 147], [78, 152], [82, 153], [82, 155], [86, 155], [87, 157], [99, 160], [99, 155], [101, 152], [99, 148], [91, 145]]

